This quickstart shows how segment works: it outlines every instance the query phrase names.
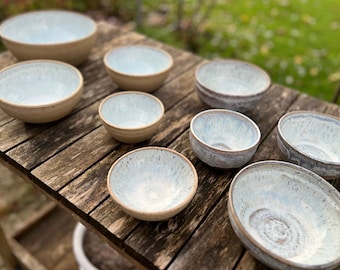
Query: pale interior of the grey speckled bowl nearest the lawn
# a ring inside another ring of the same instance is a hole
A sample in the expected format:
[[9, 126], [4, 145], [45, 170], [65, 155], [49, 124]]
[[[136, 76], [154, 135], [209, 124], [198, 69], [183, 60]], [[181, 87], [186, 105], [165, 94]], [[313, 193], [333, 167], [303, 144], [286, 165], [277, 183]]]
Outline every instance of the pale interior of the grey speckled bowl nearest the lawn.
[[224, 95], [254, 95], [270, 86], [268, 74], [257, 66], [241, 61], [217, 60], [196, 70], [199, 85]]

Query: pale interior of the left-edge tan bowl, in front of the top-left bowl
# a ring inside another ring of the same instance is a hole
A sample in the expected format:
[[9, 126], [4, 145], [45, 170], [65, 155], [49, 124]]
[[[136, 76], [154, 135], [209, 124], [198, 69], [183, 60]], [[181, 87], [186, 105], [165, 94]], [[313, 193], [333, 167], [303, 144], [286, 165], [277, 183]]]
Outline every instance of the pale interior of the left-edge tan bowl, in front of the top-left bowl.
[[72, 95], [80, 73], [58, 62], [28, 61], [0, 72], [0, 99], [22, 106], [47, 105]]

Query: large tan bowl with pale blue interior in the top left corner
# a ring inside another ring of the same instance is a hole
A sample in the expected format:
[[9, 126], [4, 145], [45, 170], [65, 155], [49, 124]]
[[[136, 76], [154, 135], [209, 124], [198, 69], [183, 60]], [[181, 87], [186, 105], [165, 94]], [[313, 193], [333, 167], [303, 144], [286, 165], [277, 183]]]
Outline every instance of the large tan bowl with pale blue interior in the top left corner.
[[20, 61], [54, 59], [79, 65], [95, 44], [97, 24], [84, 15], [61, 10], [23, 13], [5, 20], [0, 36]]

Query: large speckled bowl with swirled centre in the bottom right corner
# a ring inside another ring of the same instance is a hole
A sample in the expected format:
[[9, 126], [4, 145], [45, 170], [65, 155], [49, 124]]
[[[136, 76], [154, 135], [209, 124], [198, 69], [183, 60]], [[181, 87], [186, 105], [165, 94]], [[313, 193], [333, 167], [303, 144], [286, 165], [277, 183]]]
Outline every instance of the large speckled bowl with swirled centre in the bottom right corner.
[[273, 269], [340, 265], [340, 193], [317, 174], [283, 161], [242, 169], [229, 189], [231, 225]]

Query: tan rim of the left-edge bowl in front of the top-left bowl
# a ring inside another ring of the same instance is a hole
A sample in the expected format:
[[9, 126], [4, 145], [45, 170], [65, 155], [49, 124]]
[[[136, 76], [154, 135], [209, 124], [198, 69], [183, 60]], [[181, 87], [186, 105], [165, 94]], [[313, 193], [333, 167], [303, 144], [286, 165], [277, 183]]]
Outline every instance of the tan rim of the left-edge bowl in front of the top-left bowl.
[[78, 94], [80, 94], [83, 91], [84, 78], [83, 78], [83, 75], [81, 74], [81, 72], [79, 71], [79, 69], [77, 69], [75, 66], [73, 66], [71, 64], [68, 64], [68, 63], [65, 63], [65, 62], [62, 62], [62, 61], [58, 61], [58, 60], [36, 59], [36, 60], [27, 60], [27, 61], [17, 62], [15, 64], [12, 64], [12, 65], [7, 66], [7, 67], [3, 68], [2, 70], [0, 70], [0, 77], [1, 77], [2, 73], [6, 72], [7, 70], [10, 70], [12, 68], [25, 66], [25, 65], [34, 65], [34, 64], [56, 64], [56, 65], [59, 65], [59, 66], [67, 67], [70, 71], [73, 72], [73, 74], [77, 75], [77, 77], [78, 77], [77, 87], [75, 89], [73, 89], [72, 92], [68, 96], [66, 96], [62, 99], [58, 99], [54, 102], [34, 104], [34, 105], [26, 105], [26, 104], [20, 104], [20, 103], [8, 101], [8, 100], [6, 100], [6, 99], [4, 99], [0, 96], [0, 104], [2, 103], [2, 104], [6, 104], [6, 105], [9, 105], [9, 106], [12, 106], [12, 107], [19, 107], [19, 108], [25, 108], [25, 109], [46, 108], [46, 107], [62, 104], [65, 101], [70, 100], [73, 97], [77, 96]]

